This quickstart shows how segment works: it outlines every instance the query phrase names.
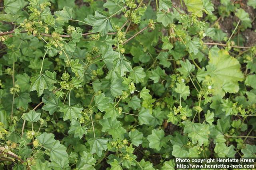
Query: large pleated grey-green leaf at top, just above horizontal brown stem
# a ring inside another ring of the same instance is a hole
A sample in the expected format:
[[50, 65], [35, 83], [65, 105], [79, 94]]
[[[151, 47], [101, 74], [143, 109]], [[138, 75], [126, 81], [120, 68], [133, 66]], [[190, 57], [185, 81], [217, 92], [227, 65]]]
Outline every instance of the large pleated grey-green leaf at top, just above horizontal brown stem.
[[102, 35], [106, 35], [109, 31], [113, 31], [113, 26], [110, 18], [106, 14], [100, 11], [96, 11], [92, 17], [92, 32], [100, 32]]

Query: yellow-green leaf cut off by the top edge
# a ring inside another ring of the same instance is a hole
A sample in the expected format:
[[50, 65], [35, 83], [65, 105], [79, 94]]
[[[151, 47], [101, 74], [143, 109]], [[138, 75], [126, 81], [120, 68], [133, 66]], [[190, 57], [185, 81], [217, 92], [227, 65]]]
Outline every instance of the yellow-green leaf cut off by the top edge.
[[196, 16], [203, 16], [204, 6], [202, 0], [184, 0], [185, 5], [188, 8], [188, 12], [193, 12]]

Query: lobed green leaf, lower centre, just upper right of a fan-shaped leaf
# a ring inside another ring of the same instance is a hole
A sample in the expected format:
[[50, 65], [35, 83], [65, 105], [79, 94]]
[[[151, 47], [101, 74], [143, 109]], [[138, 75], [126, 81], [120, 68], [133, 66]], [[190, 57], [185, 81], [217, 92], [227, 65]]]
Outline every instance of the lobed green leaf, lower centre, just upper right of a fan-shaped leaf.
[[108, 134], [112, 135], [112, 138], [115, 139], [122, 139], [124, 136], [123, 134], [126, 133], [126, 130], [121, 127], [120, 121], [112, 118], [108, 119], [101, 119], [99, 121], [100, 125], [102, 125], [102, 132], [108, 132]]

